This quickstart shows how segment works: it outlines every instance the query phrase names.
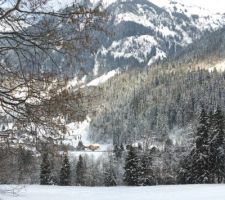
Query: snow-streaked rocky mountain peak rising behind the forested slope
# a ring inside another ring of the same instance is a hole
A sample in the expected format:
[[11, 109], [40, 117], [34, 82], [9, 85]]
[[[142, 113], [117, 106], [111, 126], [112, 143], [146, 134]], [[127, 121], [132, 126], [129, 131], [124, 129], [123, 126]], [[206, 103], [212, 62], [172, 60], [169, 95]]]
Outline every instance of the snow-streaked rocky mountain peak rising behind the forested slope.
[[[85, 1], [90, 6], [93, 2], [98, 1]], [[150, 0], [103, 1], [103, 5], [109, 15], [105, 28], [111, 34], [93, 33], [98, 41], [92, 48], [96, 54], [86, 50], [77, 59], [53, 52], [58, 64], [54, 70], [73, 76], [82, 69], [81, 74], [88, 74], [90, 80], [117, 68], [144, 67], [176, 55], [206, 32], [225, 24], [222, 14], [176, 2], [165, 7], [158, 7]], [[43, 61], [46, 68], [52, 65], [49, 60]]]

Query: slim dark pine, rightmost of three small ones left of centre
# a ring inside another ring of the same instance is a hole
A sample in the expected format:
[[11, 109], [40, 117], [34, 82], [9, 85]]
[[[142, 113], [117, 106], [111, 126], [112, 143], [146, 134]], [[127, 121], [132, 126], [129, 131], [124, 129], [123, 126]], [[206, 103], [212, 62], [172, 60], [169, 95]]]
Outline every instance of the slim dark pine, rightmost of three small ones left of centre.
[[80, 155], [76, 165], [76, 183], [77, 185], [85, 185], [86, 164], [83, 157]]

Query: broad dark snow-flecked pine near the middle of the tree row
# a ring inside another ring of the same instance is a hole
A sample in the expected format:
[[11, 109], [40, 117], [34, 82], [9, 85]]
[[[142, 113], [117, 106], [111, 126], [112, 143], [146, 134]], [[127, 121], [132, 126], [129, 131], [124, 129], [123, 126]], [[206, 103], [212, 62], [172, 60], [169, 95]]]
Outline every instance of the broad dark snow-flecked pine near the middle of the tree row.
[[140, 185], [140, 177], [141, 177], [141, 162], [137, 155], [136, 150], [130, 146], [128, 155], [125, 160], [125, 173], [124, 173], [124, 181], [129, 186], [138, 186]]

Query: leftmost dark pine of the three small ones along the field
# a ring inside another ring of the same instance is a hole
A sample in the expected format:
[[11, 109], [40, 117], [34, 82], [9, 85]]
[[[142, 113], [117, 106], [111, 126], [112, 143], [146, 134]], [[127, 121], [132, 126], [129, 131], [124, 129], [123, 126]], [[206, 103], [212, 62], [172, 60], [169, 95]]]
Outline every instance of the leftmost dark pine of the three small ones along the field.
[[48, 158], [48, 153], [44, 153], [41, 163], [41, 172], [40, 172], [40, 184], [41, 185], [51, 185], [52, 176], [51, 176], [51, 165]]

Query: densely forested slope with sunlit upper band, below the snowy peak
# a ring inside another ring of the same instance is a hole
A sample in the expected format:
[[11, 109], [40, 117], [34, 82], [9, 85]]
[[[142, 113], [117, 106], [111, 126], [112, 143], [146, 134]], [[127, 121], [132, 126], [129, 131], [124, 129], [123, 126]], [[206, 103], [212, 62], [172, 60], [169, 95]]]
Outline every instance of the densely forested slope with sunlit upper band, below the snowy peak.
[[146, 137], [163, 141], [191, 133], [202, 106], [224, 109], [224, 33], [218, 30], [172, 60], [124, 72], [94, 88], [102, 93], [98, 112], [91, 117], [90, 137], [114, 143]]

